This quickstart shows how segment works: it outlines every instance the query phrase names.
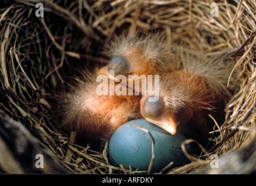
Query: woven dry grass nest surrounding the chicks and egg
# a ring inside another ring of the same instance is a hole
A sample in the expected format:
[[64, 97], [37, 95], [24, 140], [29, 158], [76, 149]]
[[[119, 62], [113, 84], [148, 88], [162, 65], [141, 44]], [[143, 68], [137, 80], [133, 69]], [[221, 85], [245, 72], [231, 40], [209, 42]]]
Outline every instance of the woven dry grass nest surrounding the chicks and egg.
[[[43, 4], [43, 12], [37, 3]], [[236, 74], [236, 78], [227, 82], [235, 86], [225, 121], [218, 123], [212, 117], [218, 134], [214, 145], [200, 157], [188, 155], [191, 163], [168, 173], [256, 170], [255, 1], [3, 0], [0, 5], [0, 108], [1, 124], [5, 123], [0, 145], [11, 155], [1, 158], [0, 171], [141, 173], [113, 166], [107, 145], [97, 152], [86, 142], [78, 144], [75, 132], [58, 127], [60, 120], [52, 108], [57, 104], [55, 93], [70, 83], [70, 77], [107, 64], [109, 58], [102, 51], [114, 35], [152, 33], [212, 55], [237, 49], [230, 57], [230, 77]], [[54, 162], [44, 158], [48, 169], [34, 169], [36, 154], [47, 154]], [[212, 154], [218, 155], [218, 169], [211, 167]], [[6, 165], [10, 160], [16, 164]]]

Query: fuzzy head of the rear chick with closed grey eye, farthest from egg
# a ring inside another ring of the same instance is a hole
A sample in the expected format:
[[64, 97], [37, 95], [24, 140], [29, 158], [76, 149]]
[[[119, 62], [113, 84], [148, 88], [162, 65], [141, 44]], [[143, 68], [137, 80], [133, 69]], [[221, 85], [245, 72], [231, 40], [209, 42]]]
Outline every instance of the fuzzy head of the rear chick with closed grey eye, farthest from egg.
[[110, 62], [105, 71], [100, 70], [98, 75], [108, 76], [110, 70], [114, 70], [115, 75], [124, 76], [153, 76], [159, 72], [173, 71], [176, 64], [169, 63], [169, 59], [174, 57], [173, 51], [173, 45], [170, 45], [164, 35], [116, 36], [108, 43], [104, 52], [111, 57]]

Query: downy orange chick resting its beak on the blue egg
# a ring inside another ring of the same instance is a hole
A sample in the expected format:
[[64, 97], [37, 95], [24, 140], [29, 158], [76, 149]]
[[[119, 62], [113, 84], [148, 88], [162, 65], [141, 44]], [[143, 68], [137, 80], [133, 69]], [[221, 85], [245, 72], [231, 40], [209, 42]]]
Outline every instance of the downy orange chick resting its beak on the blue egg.
[[[189, 53], [189, 52], [188, 52]], [[176, 134], [177, 128], [192, 138], [207, 138], [211, 127], [208, 115], [220, 113], [229, 98], [226, 83], [230, 74], [227, 64], [214, 56], [194, 58], [183, 52], [183, 69], [160, 77], [160, 98], [141, 99], [141, 115], [150, 123]]]

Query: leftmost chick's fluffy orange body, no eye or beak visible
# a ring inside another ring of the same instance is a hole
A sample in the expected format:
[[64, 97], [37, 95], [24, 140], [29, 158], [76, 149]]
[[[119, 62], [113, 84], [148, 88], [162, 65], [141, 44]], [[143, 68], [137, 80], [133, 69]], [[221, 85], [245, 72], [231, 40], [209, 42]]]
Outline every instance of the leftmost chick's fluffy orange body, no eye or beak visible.
[[[62, 126], [87, 138], [109, 140], [113, 132], [129, 119], [139, 116], [139, 97], [135, 95], [99, 95], [96, 77], [77, 80], [62, 98]], [[116, 84], [115, 84], [116, 86]], [[108, 83], [108, 93], [109, 93]]]

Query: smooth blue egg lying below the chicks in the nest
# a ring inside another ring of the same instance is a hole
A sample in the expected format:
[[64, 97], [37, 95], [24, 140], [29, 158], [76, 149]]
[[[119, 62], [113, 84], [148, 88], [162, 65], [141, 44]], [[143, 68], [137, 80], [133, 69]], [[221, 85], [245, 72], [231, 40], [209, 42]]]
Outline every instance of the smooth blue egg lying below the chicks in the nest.
[[[183, 134], [171, 135], [162, 128], [145, 119], [129, 121], [119, 127], [110, 138], [108, 155], [115, 166], [124, 166], [132, 170], [148, 170], [152, 159], [152, 140], [148, 133], [132, 125], [146, 128], [155, 140], [155, 160], [150, 173], [161, 171], [170, 162], [171, 169], [183, 166], [190, 161], [181, 150], [181, 143], [186, 140]], [[190, 149], [190, 145], [185, 146]]]

